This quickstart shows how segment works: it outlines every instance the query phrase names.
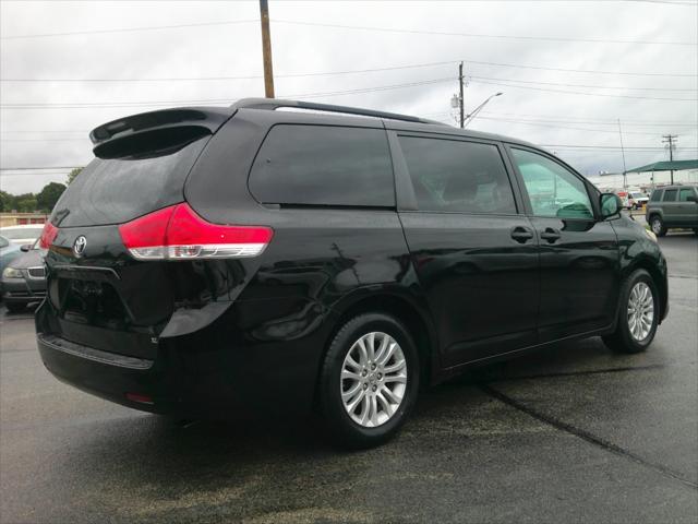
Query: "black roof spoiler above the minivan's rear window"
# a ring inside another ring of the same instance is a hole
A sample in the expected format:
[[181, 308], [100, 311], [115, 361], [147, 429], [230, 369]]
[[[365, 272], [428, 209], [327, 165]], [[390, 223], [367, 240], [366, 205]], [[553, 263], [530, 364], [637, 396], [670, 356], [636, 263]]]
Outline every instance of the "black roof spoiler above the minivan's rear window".
[[100, 158], [117, 158], [176, 146], [214, 134], [236, 109], [185, 107], [142, 112], [104, 123], [92, 130], [93, 152]]

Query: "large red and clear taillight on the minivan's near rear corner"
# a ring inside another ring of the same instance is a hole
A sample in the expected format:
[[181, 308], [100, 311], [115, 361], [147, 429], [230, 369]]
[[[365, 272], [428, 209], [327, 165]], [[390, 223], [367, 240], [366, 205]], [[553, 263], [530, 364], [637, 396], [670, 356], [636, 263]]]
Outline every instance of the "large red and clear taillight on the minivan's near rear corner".
[[171, 205], [119, 226], [121, 240], [139, 260], [256, 257], [272, 240], [265, 226], [219, 226], [189, 204]]

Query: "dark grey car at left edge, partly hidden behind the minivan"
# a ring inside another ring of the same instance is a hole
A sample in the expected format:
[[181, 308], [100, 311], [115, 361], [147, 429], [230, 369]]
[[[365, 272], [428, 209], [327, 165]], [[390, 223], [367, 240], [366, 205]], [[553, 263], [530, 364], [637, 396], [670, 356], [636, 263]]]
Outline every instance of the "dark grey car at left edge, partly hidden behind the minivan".
[[46, 270], [38, 240], [22, 246], [20, 257], [12, 260], [1, 274], [2, 300], [8, 311], [22, 311], [46, 297]]

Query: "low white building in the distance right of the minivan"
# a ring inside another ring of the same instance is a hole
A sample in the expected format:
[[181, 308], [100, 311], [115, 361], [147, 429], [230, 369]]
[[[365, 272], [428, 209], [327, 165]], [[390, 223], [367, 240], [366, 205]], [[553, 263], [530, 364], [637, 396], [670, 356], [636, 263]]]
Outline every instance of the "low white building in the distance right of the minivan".
[[[628, 188], [650, 192], [659, 186], [672, 183], [698, 184], [698, 159], [655, 162], [626, 171]], [[616, 190], [624, 187], [622, 172], [607, 172], [587, 177], [600, 190]]]

